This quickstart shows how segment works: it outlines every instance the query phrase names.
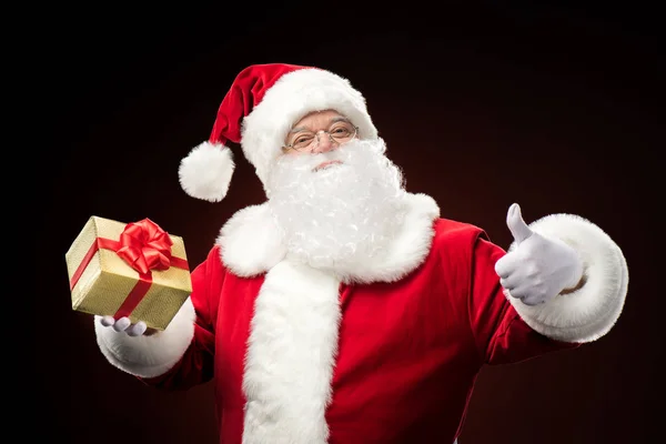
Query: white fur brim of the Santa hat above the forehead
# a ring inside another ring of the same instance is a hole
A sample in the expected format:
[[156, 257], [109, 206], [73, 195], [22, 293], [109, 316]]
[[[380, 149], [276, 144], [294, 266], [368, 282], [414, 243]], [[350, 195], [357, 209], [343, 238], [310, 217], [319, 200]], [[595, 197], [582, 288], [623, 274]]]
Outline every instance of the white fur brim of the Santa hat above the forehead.
[[265, 184], [271, 162], [280, 154], [289, 130], [305, 114], [333, 109], [359, 127], [361, 139], [375, 139], [377, 130], [365, 99], [349, 80], [316, 68], [282, 75], [243, 119], [241, 147]]

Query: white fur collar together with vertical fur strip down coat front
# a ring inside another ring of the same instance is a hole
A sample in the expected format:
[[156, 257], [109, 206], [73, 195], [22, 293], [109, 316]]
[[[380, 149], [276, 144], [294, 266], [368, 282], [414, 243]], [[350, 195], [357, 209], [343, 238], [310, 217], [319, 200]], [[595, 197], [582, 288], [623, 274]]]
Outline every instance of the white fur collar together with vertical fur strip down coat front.
[[222, 228], [216, 242], [229, 270], [242, 278], [265, 273], [243, 375], [244, 444], [326, 443], [341, 282], [400, 280], [423, 263], [432, 245], [435, 201], [407, 193], [404, 204], [404, 223], [385, 254], [334, 272], [286, 259], [266, 204], [240, 210]]

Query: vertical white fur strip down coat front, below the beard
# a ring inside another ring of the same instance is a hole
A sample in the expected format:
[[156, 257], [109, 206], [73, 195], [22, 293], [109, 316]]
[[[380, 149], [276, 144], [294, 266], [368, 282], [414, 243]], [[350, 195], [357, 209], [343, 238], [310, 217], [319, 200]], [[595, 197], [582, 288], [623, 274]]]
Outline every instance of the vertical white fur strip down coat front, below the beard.
[[325, 444], [340, 281], [280, 262], [256, 297], [243, 377], [244, 444]]

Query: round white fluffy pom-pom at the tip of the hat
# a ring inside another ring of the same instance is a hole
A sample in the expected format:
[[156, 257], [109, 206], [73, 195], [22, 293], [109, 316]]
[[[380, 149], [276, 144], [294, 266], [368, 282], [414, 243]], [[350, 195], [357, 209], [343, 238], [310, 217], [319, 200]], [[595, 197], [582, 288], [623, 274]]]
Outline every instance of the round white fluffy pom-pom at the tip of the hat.
[[233, 154], [228, 147], [203, 142], [181, 161], [178, 174], [185, 193], [219, 202], [229, 191], [234, 168]]

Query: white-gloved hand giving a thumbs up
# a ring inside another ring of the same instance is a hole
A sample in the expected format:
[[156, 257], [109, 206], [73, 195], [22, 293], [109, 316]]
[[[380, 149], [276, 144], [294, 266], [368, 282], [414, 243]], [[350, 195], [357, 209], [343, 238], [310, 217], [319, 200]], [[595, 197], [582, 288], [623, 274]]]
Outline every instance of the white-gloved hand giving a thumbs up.
[[572, 246], [533, 232], [517, 203], [508, 209], [506, 225], [514, 236], [515, 249], [495, 263], [495, 272], [511, 296], [537, 305], [578, 284], [583, 263]]

